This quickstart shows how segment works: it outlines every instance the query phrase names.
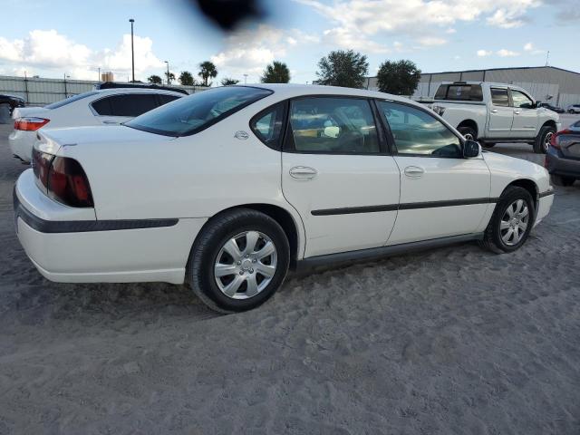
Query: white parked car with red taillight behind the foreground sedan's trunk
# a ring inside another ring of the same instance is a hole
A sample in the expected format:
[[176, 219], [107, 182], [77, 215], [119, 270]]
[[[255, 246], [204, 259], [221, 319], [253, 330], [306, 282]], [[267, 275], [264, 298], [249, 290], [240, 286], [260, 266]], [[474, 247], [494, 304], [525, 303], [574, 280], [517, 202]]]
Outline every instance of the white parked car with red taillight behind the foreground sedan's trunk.
[[39, 130], [82, 125], [118, 125], [146, 111], [172, 102], [180, 92], [114, 88], [84, 92], [44, 107], [17, 108], [14, 131], [8, 136], [14, 157], [28, 162]]

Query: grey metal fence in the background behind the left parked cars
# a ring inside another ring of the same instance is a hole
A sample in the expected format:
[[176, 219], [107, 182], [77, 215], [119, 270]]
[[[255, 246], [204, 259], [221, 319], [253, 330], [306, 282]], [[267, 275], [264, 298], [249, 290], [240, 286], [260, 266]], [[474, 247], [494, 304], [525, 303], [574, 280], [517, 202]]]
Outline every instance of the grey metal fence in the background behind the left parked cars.
[[[26, 104], [31, 106], [43, 106], [51, 102], [60, 102], [78, 93], [92, 91], [97, 83], [99, 82], [0, 75], [0, 93], [23, 97]], [[189, 93], [207, 89], [198, 86], [175, 87], [185, 89]]]

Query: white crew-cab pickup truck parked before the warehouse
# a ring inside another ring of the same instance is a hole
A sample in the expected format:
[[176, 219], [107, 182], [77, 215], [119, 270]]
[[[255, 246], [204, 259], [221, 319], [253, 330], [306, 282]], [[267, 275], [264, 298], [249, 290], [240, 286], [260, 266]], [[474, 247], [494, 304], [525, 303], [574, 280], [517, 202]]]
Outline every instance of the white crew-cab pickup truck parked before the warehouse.
[[546, 153], [560, 118], [540, 107], [526, 90], [505, 83], [442, 82], [431, 109], [466, 138], [485, 148], [498, 142], [524, 142]]

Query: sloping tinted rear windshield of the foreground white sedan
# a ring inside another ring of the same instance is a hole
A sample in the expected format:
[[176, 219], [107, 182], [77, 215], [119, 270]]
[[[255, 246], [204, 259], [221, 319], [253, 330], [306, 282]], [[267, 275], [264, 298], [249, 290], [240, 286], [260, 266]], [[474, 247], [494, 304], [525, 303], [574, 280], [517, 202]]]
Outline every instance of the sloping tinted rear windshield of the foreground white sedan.
[[166, 136], [188, 136], [227, 118], [272, 91], [247, 86], [225, 86], [189, 95], [143, 113], [125, 125]]

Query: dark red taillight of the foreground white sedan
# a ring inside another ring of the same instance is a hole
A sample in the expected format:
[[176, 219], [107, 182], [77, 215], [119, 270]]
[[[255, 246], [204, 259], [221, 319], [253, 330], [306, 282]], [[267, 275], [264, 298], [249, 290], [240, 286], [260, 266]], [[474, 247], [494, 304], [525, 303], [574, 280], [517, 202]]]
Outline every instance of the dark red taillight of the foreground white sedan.
[[55, 201], [69, 207], [93, 207], [91, 186], [81, 164], [69, 157], [33, 150], [37, 184]]

